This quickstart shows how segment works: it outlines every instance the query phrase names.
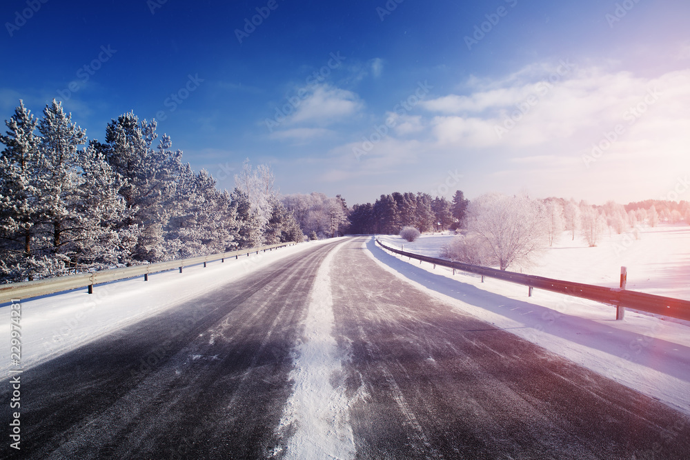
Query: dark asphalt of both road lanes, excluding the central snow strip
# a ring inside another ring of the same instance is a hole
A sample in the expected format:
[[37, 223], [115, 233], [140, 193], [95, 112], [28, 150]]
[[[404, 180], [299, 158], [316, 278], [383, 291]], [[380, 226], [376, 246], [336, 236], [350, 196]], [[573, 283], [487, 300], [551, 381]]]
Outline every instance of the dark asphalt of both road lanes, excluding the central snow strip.
[[336, 250], [333, 336], [356, 458], [690, 458], [690, 417], [411, 288], [364, 241], [287, 257], [26, 370], [21, 451], [4, 437], [2, 457], [284, 457], [295, 349]]

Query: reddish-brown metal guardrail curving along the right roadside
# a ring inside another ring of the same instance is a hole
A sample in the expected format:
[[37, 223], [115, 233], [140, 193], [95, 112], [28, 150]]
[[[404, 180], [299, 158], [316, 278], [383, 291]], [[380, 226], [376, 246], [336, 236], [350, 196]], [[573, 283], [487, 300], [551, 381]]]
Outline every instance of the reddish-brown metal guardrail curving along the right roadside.
[[[419, 261], [433, 263], [434, 265], [443, 267], [454, 268], [455, 270], [461, 270], [463, 272], [480, 274], [482, 277], [502, 279], [503, 281], [510, 281], [511, 283], [528, 286], [530, 294], [532, 288], [543, 289], [551, 292], [560, 292], [560, 294], [567, 294], [573, 297], [582, 297], [582, 299], [607, 303], [618, 308], [633, 308], [635, 310], [641, 310], [648, 313], [662, 314], [667, 317], [690, 321], [690, 301], [673, 299], [671, 297], [663, 297], [654, 294], [646, 294], [644, 292], [631, 291], [621, 288], [604, 288], [603, 286], [573, 283], [572, 281], [538, 277], [531, 274], [506, 272], [504, 270], [497, 270], [495, 268], [470, 265], [469, 263], [453, 262], [447, 259], [437, 259], [435, 257], [426, 257], [420, 254], [413, 254], [412, 252], [391, 248], [386, 246], [378, 239], [376, 239], [376, 242], [379, 243], [382, 248], [405, 257], [410, 257], [411, 259], [417, 259]], [[622, 314], [618, 315], [618, 317], [622, 317]]]

